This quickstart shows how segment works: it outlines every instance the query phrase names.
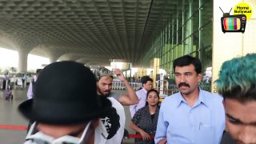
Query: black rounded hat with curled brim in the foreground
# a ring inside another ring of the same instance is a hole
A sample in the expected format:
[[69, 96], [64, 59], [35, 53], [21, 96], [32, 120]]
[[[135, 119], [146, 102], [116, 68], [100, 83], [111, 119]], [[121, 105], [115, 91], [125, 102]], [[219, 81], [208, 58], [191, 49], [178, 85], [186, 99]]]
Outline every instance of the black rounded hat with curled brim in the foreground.
[[28, 119], [48, 124], [73, 124], [100, 118], [111, 102], [97, 95], [94, 74], [77, 62], [54, 62], [41, 70], [34, 98], [18, 110]]

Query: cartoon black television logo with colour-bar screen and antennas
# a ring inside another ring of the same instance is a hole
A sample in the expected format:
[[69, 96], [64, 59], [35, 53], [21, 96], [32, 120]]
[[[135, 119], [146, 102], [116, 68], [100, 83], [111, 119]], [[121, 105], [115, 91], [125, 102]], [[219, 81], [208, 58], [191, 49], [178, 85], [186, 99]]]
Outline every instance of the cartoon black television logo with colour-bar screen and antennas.
[[[222, 10], [221, 7], [219, 8]], [[222, 32], [224, 34], [226, 32], [242, 32], [242, 33], [245, 32], [246, 30], [245, 14], [230, 15], [230, 13], [224, 13], [223, 11], [222, 13], [223, 13], [223, 17], [221, 18], [221, 22], [222, 22]]]

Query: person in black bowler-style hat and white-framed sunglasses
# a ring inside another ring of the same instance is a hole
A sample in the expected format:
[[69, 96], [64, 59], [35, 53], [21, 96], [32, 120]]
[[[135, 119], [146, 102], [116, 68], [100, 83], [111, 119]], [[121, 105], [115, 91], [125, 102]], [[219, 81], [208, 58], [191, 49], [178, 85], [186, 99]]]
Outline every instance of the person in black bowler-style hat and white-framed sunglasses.
[[34, 98], [18, 106], [26, 118], [34, 121], [26, 144], [106, 141], [106, 129], [98, 123], [111, 109], [111, 102], [97, 95], [89, 68], [77, 62], [54, 62], [40, 72], [35, 85]]

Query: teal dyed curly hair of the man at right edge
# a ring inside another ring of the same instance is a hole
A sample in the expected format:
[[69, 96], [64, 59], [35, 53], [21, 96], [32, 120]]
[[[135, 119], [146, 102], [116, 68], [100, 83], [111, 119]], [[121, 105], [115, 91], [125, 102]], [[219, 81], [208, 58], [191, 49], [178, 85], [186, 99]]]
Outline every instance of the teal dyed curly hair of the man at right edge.
[[246, 54], [222, 64], [218, 74], [218, 94], [239, 102], [256, 100], [256, 54]]

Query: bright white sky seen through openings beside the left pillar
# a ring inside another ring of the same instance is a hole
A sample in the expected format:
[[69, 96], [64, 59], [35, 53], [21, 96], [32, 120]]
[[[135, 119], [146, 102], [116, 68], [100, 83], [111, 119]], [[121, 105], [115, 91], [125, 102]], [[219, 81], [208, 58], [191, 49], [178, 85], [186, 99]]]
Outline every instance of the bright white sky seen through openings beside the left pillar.
[[[36, 70], [42, 68], [42, 64], [49, 64], [50, 59], [34, 54], [28, 55], [27, 70]], [[18, 68], [18, 52], [0, 47], [0, 68], [17, 67]]]

